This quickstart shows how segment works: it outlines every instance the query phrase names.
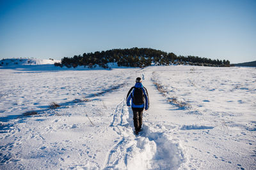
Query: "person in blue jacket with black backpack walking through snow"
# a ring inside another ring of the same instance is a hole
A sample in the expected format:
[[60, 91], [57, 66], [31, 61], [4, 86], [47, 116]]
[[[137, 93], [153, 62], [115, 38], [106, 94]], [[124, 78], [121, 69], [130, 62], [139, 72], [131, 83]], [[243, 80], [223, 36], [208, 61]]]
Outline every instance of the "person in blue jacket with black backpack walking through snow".
[[[130, 102], [131, 99], [132, 104]], [[149, 107], [148, 91], [143, 87], [140, 77], [136, 78], [136, 84], [129, 90], [126, 104], [127, 106], [132, 106], [135, 134], [138, 135], [141, 131], [143, 110], [144, 108], [148, 110]]]

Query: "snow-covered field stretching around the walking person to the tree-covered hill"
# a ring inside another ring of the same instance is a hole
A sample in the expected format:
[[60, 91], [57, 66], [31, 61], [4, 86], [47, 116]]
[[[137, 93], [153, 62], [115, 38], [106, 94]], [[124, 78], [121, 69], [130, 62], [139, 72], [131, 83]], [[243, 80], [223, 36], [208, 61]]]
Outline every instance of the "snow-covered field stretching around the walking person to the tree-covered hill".
[[[138, 76], [150, 107], [135, 136], [125, 97]], [[0, 78], [0, 169], [256, 169], [255, 68], [24, 66]]]

